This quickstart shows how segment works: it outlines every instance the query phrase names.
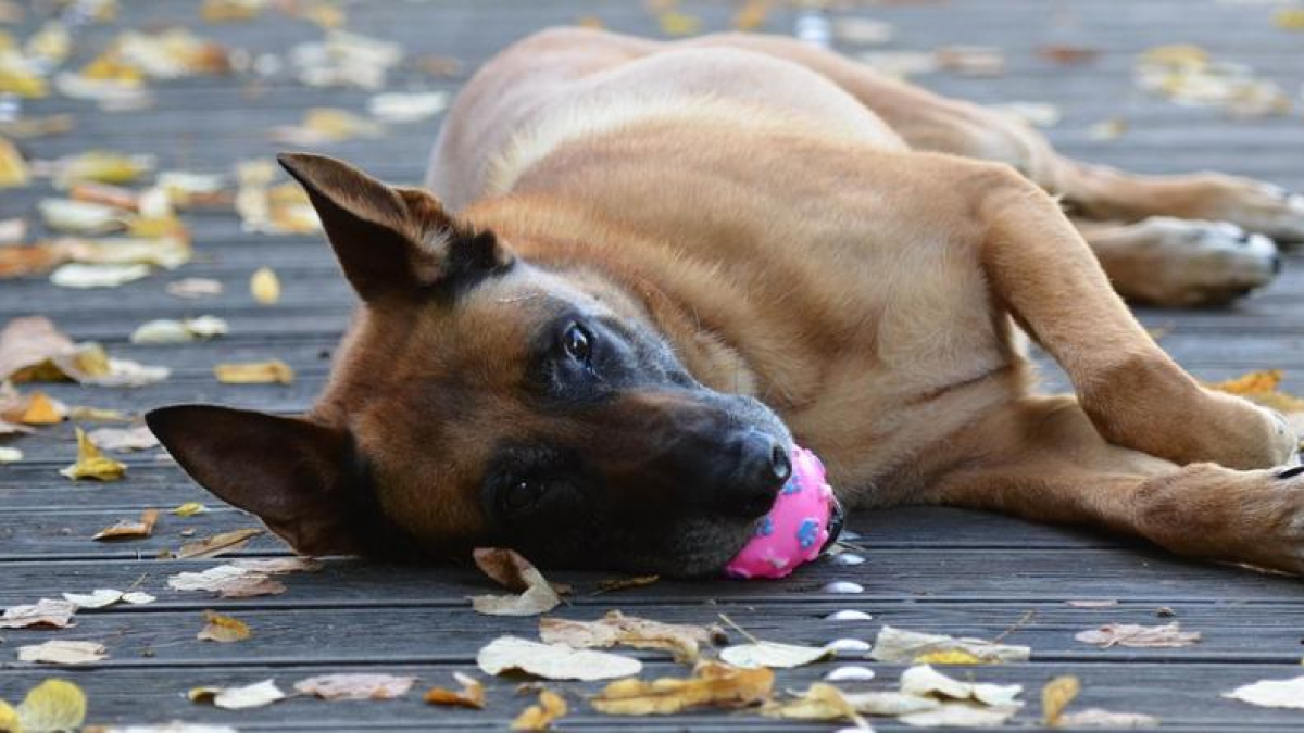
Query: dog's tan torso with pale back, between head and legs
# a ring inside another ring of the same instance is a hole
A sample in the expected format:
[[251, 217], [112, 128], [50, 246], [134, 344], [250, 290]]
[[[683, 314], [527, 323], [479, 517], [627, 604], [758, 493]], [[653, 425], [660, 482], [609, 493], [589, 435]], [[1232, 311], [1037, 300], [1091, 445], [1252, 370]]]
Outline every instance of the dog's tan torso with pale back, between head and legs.
[[936, 157], [795, 64], [566, 33], [585, 34], [535, 37], [463, 93], [429, 181], [446, 202], [634, 293], [861, 505], [904, 498], [1024, 389], [978, 252], [948, 245], [974, 224]]

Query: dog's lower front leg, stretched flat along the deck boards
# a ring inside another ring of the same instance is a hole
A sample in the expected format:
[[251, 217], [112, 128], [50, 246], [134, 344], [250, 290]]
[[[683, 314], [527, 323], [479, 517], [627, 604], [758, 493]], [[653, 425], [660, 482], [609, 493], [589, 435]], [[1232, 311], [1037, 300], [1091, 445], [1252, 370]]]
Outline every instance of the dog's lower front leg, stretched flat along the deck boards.
[[1179, 554], [1304, 573], [1304, 467], [1185, 467], [1102, 440], [1069, 396], [1016, 400], [955, 436], [975, 456], [922, 500], [1091, 523]]

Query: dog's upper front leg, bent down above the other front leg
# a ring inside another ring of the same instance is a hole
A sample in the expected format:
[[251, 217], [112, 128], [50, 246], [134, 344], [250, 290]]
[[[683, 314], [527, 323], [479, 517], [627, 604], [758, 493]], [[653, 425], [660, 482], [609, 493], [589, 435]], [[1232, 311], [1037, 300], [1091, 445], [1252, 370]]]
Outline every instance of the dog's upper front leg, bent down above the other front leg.
[[1181, 464], [1290, 458], [1295, 436], [1279, 415], [1206, 390], [1154, 343], [1046, 192], [1007, 167], [970, 166], [956, 183], [982, 226], [992, 296], [1068, 372], [1106, 440]]

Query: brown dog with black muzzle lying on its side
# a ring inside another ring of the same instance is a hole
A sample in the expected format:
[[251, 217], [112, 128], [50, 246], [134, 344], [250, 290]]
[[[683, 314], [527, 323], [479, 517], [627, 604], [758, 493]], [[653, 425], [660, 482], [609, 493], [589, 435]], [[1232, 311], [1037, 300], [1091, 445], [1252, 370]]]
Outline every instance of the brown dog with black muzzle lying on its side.
[[[1270, 277], [1270, 243], [1237, 232], [1301, 237], [1304, 205], [1265, 184], [1068, 160], [793, 39], [587, 29], [476, 73], [426, 189], [280, 162], [361, 299], [323, 394], [296, 417], [147, 421], [305, 554], [505, 545], [713, 575], [795, 442], [849, 509], [995, 510], [1304, 570], [1295, 434], [1183, 372], [1111, 288], [1204, 303]], [[1240, 230], [1170, 241], [1201, 220]], [[1210, 248], [1231, 265], [1193, 266]], [[1021, 334], [1074, 395], [1035, 394]]]

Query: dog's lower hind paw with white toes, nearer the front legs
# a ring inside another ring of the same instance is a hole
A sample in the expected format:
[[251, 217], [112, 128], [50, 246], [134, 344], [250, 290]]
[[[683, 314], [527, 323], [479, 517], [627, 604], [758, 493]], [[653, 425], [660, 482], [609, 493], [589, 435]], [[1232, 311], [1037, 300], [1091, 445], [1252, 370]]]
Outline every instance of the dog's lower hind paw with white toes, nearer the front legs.
[[1102, 260], [1123, 295], [1157, 305], [1227, 303], [1282, 267], [1270, 239], [1226, 222], [1151, 217], [1106, 244], [1115, 253]]

